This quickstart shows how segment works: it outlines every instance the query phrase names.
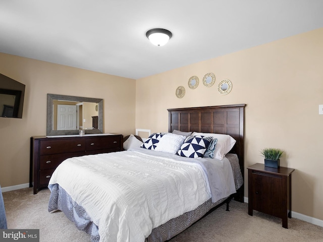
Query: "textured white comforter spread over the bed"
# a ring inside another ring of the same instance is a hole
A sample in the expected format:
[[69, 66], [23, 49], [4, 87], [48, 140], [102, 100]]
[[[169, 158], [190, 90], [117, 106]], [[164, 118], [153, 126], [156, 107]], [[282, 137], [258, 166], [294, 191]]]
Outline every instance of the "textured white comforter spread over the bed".
[[[73, 157], [59, 165], [49, 184], [59, 184], [85, 209], [99, 228], [100, 241], [140, 242], [153, 228], [211, 197], [201, 159], [192, 160], [142, 148]], [[232, 174], [229, 161], [214, 163]], [[229, 190], [223, 196], [235, 192]]]

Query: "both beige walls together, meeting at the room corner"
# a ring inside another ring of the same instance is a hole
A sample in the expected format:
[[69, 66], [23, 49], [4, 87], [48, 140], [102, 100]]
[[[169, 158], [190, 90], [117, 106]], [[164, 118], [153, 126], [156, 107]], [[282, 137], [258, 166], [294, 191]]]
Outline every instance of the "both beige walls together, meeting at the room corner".
[[[246, 103], [245, 166], [262, 163], [264, 147], [285, 149], [281, 164], [296, 169], [293, 211], [322, 220], [322, 40], [323, 28], [136, 82], [0, 53], [0, 73], [26, 85], [23, 118], [0, 118], [0, 184], [28, 183], [29, 139], [46, 133], [47, 93], [103, 98], [104, 132], [123, 135], [135, 128], [167, 131], [167, 108]], [[202, 84], [208, 72], [216, 75], [209, 88]], [[194, 90], [187, 86], [193, 75], [200, 79]], [[223, 79], [233, 84], [225, 96], [217, 92]], [[180, 85], [182, 99], [175, 96]]]

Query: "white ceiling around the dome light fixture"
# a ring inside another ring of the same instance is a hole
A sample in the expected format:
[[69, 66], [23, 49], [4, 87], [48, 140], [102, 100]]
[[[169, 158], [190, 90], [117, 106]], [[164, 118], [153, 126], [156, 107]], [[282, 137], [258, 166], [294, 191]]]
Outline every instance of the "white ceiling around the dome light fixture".
[[[138, 79], [323, 27], [322, 10], [322, 0], [1, 0], [0, 52]], [[154, 46], [152, 28], [173, 37]]]

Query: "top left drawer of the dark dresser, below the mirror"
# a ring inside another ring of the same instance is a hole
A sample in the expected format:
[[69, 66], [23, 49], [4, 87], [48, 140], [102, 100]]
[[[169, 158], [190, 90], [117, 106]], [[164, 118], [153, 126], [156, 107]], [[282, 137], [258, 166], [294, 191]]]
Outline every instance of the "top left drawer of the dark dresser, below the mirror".
[[43, 140], [40, 155], [85, 151], [85, 139]]

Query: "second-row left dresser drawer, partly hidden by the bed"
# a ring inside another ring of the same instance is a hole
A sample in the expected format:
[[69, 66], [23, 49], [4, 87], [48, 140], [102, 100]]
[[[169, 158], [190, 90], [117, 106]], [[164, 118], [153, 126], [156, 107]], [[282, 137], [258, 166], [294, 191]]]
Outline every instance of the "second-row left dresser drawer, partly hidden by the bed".
[[64, 160], [74, 156], [85, 155], [83, 151], [74, 153], [62, 153], [62, 154], [51, 154], [51, 155], [41, 155], [39, 158], [39, 169], [52, 169], [58, 167]]

